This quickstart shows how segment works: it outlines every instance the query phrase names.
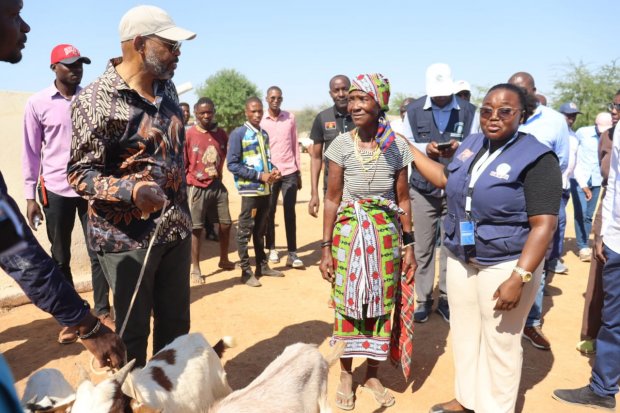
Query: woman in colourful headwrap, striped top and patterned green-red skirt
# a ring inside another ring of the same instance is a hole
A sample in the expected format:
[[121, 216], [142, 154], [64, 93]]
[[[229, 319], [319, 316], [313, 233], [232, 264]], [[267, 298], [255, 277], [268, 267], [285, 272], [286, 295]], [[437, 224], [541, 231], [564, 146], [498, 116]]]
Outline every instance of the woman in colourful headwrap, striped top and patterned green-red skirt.
[[388, 354], [398, 358], [396, 362], [404, 360], [405, 374], [411, 362], [410, 341], [409, 353], [403, 351], [401, 358], [403, 338], [392, 334], [390, 318], [393, 309], [400, 309], [401, 299], [412, 300], [416, 264], [407, 165], [413, 157], [384, 117], [389, 97], [389, 82], [381, 74], [353, 79], [348, 111], [356, 129], [339, 135], [325, 152], [329, 178], [320, 269], [332, 283], [332, 344], [346, 343], [336, 396], [336, 405], [344, 410], [355, 405], [352, 357], [368, 359], [360, 388], [384, 407], [395, 399], [377, 378], [379, 361]]

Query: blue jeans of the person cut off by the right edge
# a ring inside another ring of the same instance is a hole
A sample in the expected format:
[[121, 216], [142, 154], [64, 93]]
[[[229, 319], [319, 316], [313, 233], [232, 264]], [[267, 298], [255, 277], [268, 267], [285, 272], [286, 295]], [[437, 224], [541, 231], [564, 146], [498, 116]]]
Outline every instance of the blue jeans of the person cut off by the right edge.
[[603, 324], [596, 337], [596, 360], [590, 387], [600, 396], [618, 393], [620, 380], [620, 254], [605, 246]]

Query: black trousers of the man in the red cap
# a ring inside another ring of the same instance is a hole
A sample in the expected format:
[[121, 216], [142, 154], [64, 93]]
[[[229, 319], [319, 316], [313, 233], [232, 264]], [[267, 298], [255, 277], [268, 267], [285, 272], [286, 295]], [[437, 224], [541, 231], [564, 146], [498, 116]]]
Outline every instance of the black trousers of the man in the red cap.
[[[84, 239], [86, 239], [86, 223], [88, 220], [88, 201], [80, 197], [66, 197], [47, 191], [47, 206], [43, 207], [45, 214], [45, 226], [47, 238], [51, 244], [52, 258], [63, 272], [69, 284], [73, 285], [71, 273], [71, 234], [77, 214], [82, 224]], [[90, 259], [90, 271], [93, 284], [93, 300], [95, 301], [95, 314], [104, 315], [110, 313], [110, 286], [103, 274], [97, 254], [88, 248], [86, 250]]]

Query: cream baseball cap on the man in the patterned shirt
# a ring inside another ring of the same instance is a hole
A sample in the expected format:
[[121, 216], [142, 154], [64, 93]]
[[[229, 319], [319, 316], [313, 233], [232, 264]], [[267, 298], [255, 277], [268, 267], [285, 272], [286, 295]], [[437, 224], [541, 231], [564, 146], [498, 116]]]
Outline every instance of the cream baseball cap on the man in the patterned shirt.
[[196, 37], [196, 33], [178, 27], [165, 10], [155, 6], [136, 6], [130, 9], [121, 19], [118, 32], [121, 42], [150, 34], [173, 42]]

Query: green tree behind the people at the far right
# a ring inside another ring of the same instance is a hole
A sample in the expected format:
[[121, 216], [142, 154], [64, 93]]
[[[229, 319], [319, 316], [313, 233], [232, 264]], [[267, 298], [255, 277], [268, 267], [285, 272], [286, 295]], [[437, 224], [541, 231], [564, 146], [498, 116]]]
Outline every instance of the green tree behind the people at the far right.
[[616, 60], [598, 68], [590, 69], [583, 62], [569, 62], [563, 75], [554, 82], [552, 107], [575, 102], [582, 115], [577, 116], [574, 128], [593, 125], [596, 115], [607, 110], [620, 89], [620, 66]]

